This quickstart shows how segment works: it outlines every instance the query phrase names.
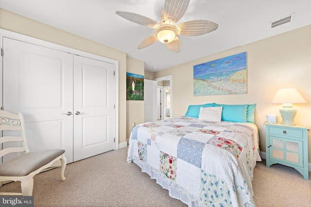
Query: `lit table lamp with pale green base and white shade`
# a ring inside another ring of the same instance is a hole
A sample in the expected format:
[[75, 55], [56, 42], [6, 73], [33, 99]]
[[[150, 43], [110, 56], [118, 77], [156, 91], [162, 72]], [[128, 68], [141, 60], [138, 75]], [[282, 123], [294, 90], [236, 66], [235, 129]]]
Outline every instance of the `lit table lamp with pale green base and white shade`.
[[276, 96], [274, 96], [271, 103], [283, 104], [283, 107], [280, 108], [281, 124], [295, 125], [294, 118], [297, 110], [293, 107], [293, 104], [307, 103], [307, 101], [295, 88], [282, 88], [276, 92]]

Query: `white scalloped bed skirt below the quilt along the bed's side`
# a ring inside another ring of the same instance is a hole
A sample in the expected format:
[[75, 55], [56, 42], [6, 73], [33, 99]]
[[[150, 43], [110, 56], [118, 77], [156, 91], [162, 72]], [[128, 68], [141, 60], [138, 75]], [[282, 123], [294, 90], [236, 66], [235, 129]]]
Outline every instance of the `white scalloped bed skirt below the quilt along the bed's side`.
[[162, 177], [156, 175], [154, 172], [152, 172], [148, 167], [146, 167], [145, 165], [141, 165], [139, 163], [137, 163], [135, 160], [133, 160], [134, 163], [136, 163], [140, 168], [141, 168], [141, 172], [143, 173], [147, 173], [148, 175], [150, 175], [151, 179], [155, 179], [156, 183], [159, 184], [160, 186], [162, 186], [162, 188], [166, 189], [169, 191], [169, 195], [172, 198], [176, 198], [180, 201], [182, 201], [183, 203], [187, 204], [189, 207], [198, 207], [197, 204], [193, 203], [188, 197], [184, 196], [180, 191], [177, 191], [176, 189], [174, 189], [172, 186], [170, 186], [169, 184], [167, 184]]

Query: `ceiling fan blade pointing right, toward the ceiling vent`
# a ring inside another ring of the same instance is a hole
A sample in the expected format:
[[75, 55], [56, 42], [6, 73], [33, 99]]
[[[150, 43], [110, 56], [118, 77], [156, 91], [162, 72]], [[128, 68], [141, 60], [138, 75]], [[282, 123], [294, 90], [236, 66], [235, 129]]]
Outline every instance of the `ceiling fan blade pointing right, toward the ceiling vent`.
[[197, 36], [212, 32], [218, 28], [218, 24], [207, 20], [192, 20], [176, 26], [181, 30], [179, 34], [186, 36]]

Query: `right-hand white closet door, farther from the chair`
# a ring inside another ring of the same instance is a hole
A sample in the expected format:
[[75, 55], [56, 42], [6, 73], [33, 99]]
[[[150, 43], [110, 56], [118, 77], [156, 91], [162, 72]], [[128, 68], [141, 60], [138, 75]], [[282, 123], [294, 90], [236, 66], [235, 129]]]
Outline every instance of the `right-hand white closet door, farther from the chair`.
[[114, 149], [114, 64], [74, 55], [73, 73], [73, 159], [78, 161]]

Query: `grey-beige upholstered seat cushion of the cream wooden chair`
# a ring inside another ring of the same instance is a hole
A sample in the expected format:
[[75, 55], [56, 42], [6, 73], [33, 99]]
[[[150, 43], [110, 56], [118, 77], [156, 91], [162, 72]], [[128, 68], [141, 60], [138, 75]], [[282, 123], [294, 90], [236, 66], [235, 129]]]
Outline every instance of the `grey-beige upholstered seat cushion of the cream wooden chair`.
[[1, 176], [26, 176], [65, 153], [64, 149], [29, 152], [0, 164]]

